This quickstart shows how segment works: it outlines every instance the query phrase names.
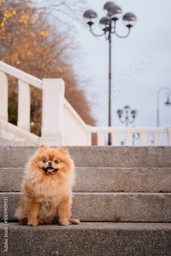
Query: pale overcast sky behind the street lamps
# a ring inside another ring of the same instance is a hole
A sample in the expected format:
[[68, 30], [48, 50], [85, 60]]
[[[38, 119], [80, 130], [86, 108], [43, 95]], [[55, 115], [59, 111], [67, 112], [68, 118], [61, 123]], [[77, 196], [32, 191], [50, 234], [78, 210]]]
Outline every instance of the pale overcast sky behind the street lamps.
[[[87, 0], [88, 9], [98, 14], [92, 29], [100, 34], [99, 19], [105, 16], [106, 1]], [[162, 87], [171, 90], [171, 1], [170, 0], [117, 0], [123, 14], [134, 12], [137, 23], [127, 38], [112, 36], [112, 126], [123, 126], [116, 111], [129, 105], [138, 115], [131, 126], [156, 126], [157, 91]], [[85, 11], [87, 8], [85, 9]], [[127, 28], [122, 18], [117, 23], [117, 33], [125, 35]], [[80, 72], [91, 79], [91, 91], [96, 95], [92, 113], [99, 126], [108, 126], [109, 41], [104, 36], [95, 37], [89, 27], [78, 27], [83, 51]], [[145, 60], [144, 60], [145, 59]], [[131, 75], [128, 73], [131, 72]], [[116, 90], [120, 83], [120, 89]], [[160, 126], [171, 125], [171, 106], [165, 106], [166, 91], [160, 93]], [[171, 101], [171, 95], [170, 95]]]

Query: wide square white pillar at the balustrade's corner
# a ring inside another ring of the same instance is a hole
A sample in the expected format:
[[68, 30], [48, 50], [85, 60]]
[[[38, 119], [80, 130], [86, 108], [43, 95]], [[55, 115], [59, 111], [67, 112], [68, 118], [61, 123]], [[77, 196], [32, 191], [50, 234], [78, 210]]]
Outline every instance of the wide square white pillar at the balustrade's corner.
[[[42, 79], [42, 138], [62, 141], [65, 82], [61, 78]], [[45, 141], [45, 140], [44, 140]]]

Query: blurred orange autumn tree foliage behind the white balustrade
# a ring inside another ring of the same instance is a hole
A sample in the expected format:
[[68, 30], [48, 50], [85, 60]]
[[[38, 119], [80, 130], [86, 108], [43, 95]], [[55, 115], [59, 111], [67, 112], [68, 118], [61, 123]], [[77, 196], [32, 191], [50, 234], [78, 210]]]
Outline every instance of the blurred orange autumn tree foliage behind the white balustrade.
[[[29, 0], [0, 0], [0, 59], [37, 78], [63, 78], [65, 96], [82, 119], [95, 125], [79, 73], [68, 54], [72, 38]], [[16, 123], [17, 81], [9, 77], [9, 119]], [[13, 108], [12, 111], [11, 109]], [[31, 129], [40, 135], [41, 92], [31, 87]]]

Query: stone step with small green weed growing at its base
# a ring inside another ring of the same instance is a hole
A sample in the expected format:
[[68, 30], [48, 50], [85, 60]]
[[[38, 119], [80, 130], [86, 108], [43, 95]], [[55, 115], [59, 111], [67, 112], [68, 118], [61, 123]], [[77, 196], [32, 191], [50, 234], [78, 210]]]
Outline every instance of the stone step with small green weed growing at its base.
[[[14, 211], [21, 193], [0, 193], [0, 205], [8, 198], [8, 217]], [[73, 218], [80, 221], [112, 221], [117, 209], [123, 222], [170, 222], [171, 193], [73, 193]], [[4, 209], [0, 209], [0, 220]]]

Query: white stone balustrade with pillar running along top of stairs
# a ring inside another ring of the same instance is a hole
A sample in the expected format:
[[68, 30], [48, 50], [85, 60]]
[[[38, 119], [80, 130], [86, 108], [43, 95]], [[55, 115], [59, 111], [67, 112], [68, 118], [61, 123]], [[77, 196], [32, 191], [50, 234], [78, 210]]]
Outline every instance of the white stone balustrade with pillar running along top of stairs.
[[[18, 79], [17, 126], [8, 122], [8, 75]], [[42, 91], [41, 137], [30, 133], [30, 86]], [[119, 145], [119, 134], [125, 133], [125, 144], [133, 145], [133, 134], [139, 144], [147, 144], [147, 133], [154, 135], [154, 145], [160, 145], [162, 133], [169, 127], [92, 127], [84, 123], [65, 98], [65, 82], [61, 78], [42, 80], [0, 61], [0, 138], [20, 145], [91, 145], [92, 133], [97, 134], [97, 145], [105, 145], [105, 134], [112, 134], [112, 145]]]

